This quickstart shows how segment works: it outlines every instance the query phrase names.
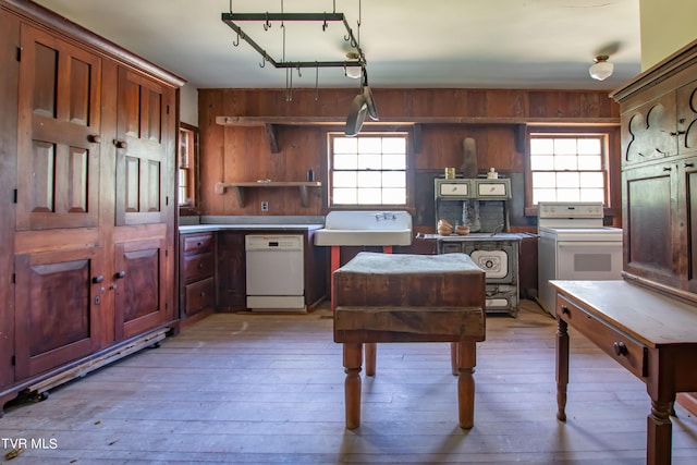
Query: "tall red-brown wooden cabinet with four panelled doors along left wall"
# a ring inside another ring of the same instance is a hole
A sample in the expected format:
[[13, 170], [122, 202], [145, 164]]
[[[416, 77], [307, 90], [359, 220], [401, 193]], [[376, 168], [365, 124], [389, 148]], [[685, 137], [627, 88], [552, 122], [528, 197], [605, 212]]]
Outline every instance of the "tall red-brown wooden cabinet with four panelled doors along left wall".
[[3, 404], [174, 327], [183, 81], [21, 0], [0, 60]]

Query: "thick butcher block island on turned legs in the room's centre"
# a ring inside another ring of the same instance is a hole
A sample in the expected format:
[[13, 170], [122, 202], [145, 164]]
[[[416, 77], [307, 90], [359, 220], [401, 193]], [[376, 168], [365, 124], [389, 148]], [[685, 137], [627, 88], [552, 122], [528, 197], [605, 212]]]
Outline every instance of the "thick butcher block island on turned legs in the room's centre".
[[362, 252], [333, 273], [334, 342], [343, 344], [346, 428], [360, 423], [360, 370], [376, 343], [450, 342], [462, 428], [474, 425], [475, 343], [485, 340], [485, 272], [464, 254]]

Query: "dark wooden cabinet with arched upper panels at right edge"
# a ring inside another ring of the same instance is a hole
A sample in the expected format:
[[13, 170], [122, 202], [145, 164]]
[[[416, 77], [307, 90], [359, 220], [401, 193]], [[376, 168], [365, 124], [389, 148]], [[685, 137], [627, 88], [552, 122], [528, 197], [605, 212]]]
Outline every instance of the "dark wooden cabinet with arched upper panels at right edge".
[[[622, 111], [625, 278], [697, 305], [697, 40], [612, 97]], [[697, 413], [695, 394], [682, 399]]]

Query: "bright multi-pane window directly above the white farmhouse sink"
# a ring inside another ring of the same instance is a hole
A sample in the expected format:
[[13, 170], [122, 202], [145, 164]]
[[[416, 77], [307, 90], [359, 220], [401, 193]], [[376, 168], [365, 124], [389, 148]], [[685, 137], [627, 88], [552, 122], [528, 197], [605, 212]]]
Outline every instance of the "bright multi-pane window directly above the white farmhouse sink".
[[329, 134], [331, 206], [405, 206], [406, 133]]

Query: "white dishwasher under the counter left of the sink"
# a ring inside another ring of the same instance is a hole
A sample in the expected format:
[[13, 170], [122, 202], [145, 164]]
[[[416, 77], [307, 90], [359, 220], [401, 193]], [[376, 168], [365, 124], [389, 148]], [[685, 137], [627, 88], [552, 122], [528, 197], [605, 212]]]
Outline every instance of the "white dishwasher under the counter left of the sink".
[[245, 236], [247, 308], [305, 311], [304, 237]]

